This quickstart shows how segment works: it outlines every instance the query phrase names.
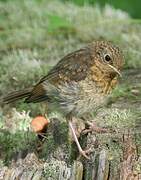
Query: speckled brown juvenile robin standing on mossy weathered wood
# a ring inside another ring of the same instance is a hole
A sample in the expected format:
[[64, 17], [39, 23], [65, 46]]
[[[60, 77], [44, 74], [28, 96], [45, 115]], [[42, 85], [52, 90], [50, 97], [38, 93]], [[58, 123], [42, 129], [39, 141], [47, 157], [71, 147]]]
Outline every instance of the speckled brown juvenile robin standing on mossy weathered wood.
[[8, 94], [4, 103], [25, 98], [26, 103], [46, 101], [52, 110], [66, 117], [78, 150], [82, 150], [72, 118], [82, 117], [106, 102], [116, 86], [123, 56], [118, 47], [107, 41], [96, 41], [62, 58], [35, 86]]

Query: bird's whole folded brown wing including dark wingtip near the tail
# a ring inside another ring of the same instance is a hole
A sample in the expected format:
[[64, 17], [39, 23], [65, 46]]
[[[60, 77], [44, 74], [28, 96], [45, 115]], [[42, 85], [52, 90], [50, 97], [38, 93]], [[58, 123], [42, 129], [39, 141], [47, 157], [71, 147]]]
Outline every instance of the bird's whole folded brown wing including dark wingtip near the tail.
[[39, 102], [49, 98], [43, 86], [45, 81], [57, 85], [63, 82], [77, 82], [85, 79], [91, 64], [89, 48], [83, 48], [68, 54], [54, 66], [47, 76], [39, 81], [26, 102]]

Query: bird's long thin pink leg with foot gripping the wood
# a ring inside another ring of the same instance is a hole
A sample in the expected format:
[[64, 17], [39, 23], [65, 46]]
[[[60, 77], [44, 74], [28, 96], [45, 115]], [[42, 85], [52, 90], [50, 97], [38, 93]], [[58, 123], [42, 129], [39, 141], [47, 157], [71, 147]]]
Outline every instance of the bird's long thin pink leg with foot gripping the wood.
[[72, 124], [72, 122], [71, 122], [70, 120], [69, 120], [69, 127], [70, 127], [70, 129], [71, 129], [72, 136], [73, 136], [74, 141], [75, 141], [75, 143], [76, 143], [76, 145], [77, 145], [77, 147], [78, 147], [78, 150], [79, 150], [80, 155], [84, 156], [86, 159], [89, 159], [89, 157], [87, 156], [87, 154], [89, 154], [90, 152], [92, 152], [92, 150], [91, 150], [91, 149], [88, 149], [88, 150], [85, 150], [85, 151], [84, 151], [84, 150], [82, 149], [82, 147], [80, 146], [80, 143], [79, 143], [79, 141], [78, 141], [78, 138], [77, 138], [77, 136], [76, 136], [76, 133], [75, 133], [73, 124]]

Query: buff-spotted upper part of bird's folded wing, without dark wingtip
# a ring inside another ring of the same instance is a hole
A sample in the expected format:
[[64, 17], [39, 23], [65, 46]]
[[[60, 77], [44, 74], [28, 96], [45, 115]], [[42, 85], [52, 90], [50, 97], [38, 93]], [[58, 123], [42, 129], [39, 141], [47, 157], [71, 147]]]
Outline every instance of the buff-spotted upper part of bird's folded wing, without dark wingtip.
[[77, 82], [85, 79], [92, 62], [89, 51], [88, 48], [84, 48], [68, 54], [39, 83], [46, 80], [58, 83], [70, 80]]

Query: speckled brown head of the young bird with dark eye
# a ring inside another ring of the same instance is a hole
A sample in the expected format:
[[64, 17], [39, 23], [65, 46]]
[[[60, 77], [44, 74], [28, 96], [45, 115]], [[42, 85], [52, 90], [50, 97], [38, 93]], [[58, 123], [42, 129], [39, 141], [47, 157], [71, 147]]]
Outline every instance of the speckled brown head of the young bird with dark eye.
[[95, 65], [103, 74], [114, 78], [121, 76], [123, 67], [123, 55], [118, 47], [107, 41], [97, 41], [94, 43]]

